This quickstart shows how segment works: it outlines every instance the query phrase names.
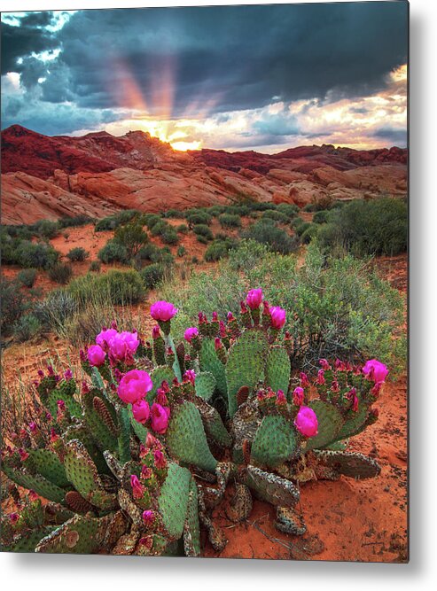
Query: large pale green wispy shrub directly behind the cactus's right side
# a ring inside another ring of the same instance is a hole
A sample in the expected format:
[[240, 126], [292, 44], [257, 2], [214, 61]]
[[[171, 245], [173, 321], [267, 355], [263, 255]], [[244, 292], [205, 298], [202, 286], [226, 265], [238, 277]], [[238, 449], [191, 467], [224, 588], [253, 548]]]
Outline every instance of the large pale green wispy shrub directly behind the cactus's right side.
[[370, 264], [350, 255], [327, 258], [309, 245], [303, 265], [293, 255], [264, 250], [246, 268], [252, 245], [242, 242], [218, 269], [193, 273], [183, 287], [162, 285], [158, 297], [179, 308], [181, 330], [194, 322], [199, 309], [207, 315], [238, 312], [247, 289], [257, 285], [266, 299], [287, 311], [293, 357], [303, 367], [316, 369], [320, 357], [336, 356], [362, 362], [371, 355], [392, 368], [405, 362], [405, 300]]

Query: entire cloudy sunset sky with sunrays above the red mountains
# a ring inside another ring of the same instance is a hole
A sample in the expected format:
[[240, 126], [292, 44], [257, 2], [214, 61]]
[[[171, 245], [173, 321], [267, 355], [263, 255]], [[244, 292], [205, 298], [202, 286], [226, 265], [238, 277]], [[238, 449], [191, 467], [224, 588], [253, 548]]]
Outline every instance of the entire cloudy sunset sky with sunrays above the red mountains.
[[4, 12], [2, 128], [177, 150], [407, 143], [408, 5]]

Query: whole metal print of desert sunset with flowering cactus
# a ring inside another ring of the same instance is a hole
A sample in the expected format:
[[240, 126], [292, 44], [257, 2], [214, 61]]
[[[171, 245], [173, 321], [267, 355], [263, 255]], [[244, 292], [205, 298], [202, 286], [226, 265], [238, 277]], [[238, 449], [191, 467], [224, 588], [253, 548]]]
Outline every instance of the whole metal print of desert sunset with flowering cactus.
[[1, 19], [2, 549], [407, 562], [408, 4]]

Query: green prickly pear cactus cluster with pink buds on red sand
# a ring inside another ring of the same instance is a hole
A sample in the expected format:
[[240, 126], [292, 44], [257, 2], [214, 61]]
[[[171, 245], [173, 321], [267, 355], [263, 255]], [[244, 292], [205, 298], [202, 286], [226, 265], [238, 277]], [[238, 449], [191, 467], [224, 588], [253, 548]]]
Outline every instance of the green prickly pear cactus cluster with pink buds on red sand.
[[[380, 384], [361, 368], [322, 360], [316, 379], [296, 373], [290, 339], [266, 304], [242, 305], [225, 321], [200, 314], [195, 337], [177, 345], [171, 321], [160, 325], [152, 345], [141, 341], [123, 360], [108, 354], [92, 366], [82, 354], [82, 387], [51, 368], [41, 379], [38, 416], [2, 451], [17, 508], [2, 517], [4, 549], [199, 556], [201, 526], [215, 549], [226, 543], [211, 510], [230, 481], [241, 494], [233, 518], [246, 518], [250, 491], [277, 508], [279, 529], [296, 534], [298, 485], [378, 475], [374, 460], [345, 451], [377, 418]], [[138, 418], [119, 396], [132, 369], [152, 380], [150, 416]], [[155, 406], [168, 412], [160, 428]], [[311, 433], [302, 408], [316, 416]]]

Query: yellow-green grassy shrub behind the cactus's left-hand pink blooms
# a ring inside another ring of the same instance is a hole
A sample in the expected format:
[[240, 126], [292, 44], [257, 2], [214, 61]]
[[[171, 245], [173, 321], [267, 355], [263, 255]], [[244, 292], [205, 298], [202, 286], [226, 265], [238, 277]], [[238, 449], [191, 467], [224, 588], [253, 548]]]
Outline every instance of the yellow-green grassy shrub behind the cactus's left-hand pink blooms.
[[74, 279], [66, 290], [80, 306], [90, 302], [137, 304], [145, 295], [143, 280], [134, 269], [111, 269], [102, 275], [89, 273]]

